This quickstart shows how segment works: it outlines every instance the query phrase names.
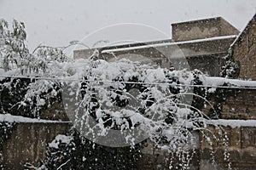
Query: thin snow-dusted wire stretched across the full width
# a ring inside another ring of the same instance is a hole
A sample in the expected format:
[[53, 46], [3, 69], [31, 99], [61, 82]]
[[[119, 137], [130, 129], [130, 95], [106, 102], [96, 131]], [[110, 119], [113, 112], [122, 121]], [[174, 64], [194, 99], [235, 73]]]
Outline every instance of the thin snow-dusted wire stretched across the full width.
[[212, 85], [197, 85], [197, 84], [171, 84], [168, 82], [112, 82], [102, 80], [84, 80], [73, 78], [54, 78], [54, 77], [25, 77], [25, 76], [0, 76], [3, 78], [27, 78], [35, 80], [54, 80], [54, 81], [75, 81], [75, 82], [106, 82], [106, 83], [126, 83], [126, 84], [141, 84], [141, 85], [154, 85], [154, 86], [171, 86], [171, 87], [190, 87], [190, 88], [235, 88], [235, 89], [252, 89], [256, 90], [256, 87], [239, 87], [239, 86], [212, 86]]

